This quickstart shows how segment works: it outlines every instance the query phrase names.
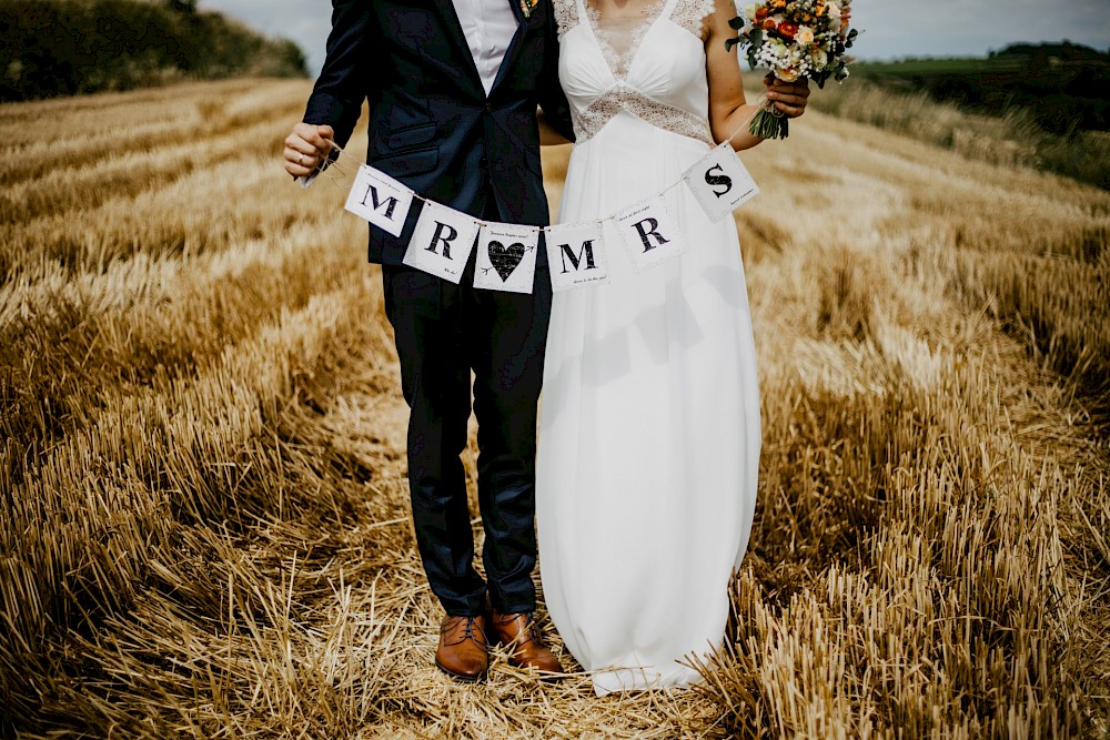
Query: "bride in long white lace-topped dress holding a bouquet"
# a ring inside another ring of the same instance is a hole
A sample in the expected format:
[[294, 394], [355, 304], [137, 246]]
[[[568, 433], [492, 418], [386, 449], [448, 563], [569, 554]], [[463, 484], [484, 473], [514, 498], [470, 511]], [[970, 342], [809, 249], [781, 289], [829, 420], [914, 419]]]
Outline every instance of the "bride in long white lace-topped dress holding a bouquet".
[[[730, 134], [737, 150], [759, 143], [725, 49], [730, 0], [551, 1], [577, 139], [559, 222], [657, 195]], [[804, 82], [768, 89], [791, 116], [806, 95]], [[543, 589], [598, 695], [697, 680], [678, 661], [724, 637], [756, 503], [759, 395], [736, 226], [710, 222], [685, 186], [666, 197], [685, 253], [637, 272], [606, 224], [610, 282], [556, 293], [547, 342]]]

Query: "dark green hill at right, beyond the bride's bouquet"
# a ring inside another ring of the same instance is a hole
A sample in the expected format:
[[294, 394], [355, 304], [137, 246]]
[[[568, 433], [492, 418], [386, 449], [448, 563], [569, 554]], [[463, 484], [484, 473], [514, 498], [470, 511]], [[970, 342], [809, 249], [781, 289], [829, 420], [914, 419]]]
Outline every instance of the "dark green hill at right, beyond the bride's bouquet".
[[925, 90], [973, 112], [1025, 109], [1056, 134], [1110, 131], [1110, 53], [1081, 44], [1016, 43], [973, 59], [907, 59], [857, 64], [854, 73], [889, 88]]

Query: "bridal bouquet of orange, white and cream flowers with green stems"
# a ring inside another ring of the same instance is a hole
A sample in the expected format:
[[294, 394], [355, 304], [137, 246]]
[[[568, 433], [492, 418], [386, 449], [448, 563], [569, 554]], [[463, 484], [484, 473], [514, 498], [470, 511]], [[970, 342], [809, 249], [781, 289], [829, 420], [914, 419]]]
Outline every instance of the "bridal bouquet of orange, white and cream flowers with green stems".
[[[767, 67], [785, 82], [807, 78], [824, 88], [829, 78], [848, 77], [845, 51], [856, 40], [848, 29], [851, 0], [760, 0], [744, 9], [730, 24], [739, 34], [729, 49], [747, 49], [753, 68]], [[764, 139], [786, 139], [787, 119], [766, 104], [751, 119], [748, 130]]]

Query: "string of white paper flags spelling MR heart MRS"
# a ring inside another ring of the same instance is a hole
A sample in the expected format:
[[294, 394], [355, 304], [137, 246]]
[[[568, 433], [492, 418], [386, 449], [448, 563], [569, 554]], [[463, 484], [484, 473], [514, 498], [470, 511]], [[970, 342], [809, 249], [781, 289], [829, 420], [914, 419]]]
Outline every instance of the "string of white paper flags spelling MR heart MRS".
[[726, 142], [710, 150], [682, 180], [608, 217], [547, 227], [490, 223], [425, 199], [384, 172], [362, 164], [347, 194], [346, 210], [401, 236], [413, 201], [424, 207], [408, 242], [404, 264], [458, 284], [475, 249], [474, 287], [532, 293], [536, 257], [546, 250], [553, 291], [609, 281], [606, 224], [619, 236], [637, 270], [673, 260], [687, 247], [666, 194], [685, 183], [706, 216], [718, 222], [759, 193], [747, 168]]

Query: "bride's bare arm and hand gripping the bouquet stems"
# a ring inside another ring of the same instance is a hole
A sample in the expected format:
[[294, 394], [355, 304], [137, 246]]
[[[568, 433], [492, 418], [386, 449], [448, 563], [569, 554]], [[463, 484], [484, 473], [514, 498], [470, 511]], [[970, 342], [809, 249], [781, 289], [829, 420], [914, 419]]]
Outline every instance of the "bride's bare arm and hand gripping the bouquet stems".
[[[709, 82], [709, 129], [713, 139], [720, 143], [735, 134], [731, 139], [733, 149], [740, 151], [755, 146], [763, 139], [748, 133], [747, 122], [755, 115], [758, 107], [748, 103], [744, 98], [744, 82], [740, 79], [736, 47], [725, 49], [725, 41], [736, 37], [736, 31], [728, 24], [735, 16], [736, 6], [733, 0], [717, 0], [717, 10], [705, 19], [705, 60]], [[767, 85], [767, 100], [775, 103], [775, 108], [786, 116], [797, 118], [806, 112], [806, 102], [809, 98], [808, 80], [771, 82], [768, 75], [764, 84]]]

